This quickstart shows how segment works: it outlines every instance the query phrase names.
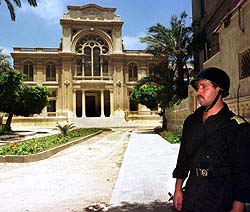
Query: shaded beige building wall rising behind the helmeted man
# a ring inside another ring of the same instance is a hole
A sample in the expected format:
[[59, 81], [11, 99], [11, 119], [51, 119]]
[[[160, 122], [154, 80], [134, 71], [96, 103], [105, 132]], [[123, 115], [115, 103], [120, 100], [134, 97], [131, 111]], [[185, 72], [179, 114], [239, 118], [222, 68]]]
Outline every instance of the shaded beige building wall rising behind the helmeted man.
[[[230, 76], [225, 99], [237, 114], [250, 120], [250, 1], [193, 0], [193, 29], [201, 44], [195, 71], [208, 66]], [[197, 107], [190, 89], [190, 105]]]

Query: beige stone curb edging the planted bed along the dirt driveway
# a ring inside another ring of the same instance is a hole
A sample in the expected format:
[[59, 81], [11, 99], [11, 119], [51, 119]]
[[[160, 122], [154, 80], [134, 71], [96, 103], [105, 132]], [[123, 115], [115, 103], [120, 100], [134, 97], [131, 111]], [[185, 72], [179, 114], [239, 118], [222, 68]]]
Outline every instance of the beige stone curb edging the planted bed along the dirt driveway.
[[30, 162], [43, 160], [43, 159], [49, 158], [50, 156], [56, 154], [57, 152], [60, 152], [64, 149], [66, 149], [67, 147], [79, 144], [82, 141], [85, 141], [89, 138], [92, 138], [95, 135], [98, 135], [100, 133], [102, 133], [102, 130], [97, 131], [96, 133], [87, 135], [83, 138], [77, 139], [75, 141], [71, 141], [71, 142], [62, 144], [60, 146], [54, 147], [52, 149], [48, 149], [48, 150], [45, 150], [43, 152], [39, 152], [37, 154], [32, 154], [32, 155], [0, 155], [0, 163], [30, 163]]

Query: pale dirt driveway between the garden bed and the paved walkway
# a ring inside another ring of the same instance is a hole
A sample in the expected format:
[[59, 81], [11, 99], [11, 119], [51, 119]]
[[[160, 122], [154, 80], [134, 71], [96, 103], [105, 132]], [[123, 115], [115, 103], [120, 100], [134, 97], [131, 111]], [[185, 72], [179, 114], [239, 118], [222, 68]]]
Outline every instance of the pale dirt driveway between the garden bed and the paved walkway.
[[33, 163], [0, 163], [0, 211], [82, 212], [109, 203], [130, 136], [105, 131]]

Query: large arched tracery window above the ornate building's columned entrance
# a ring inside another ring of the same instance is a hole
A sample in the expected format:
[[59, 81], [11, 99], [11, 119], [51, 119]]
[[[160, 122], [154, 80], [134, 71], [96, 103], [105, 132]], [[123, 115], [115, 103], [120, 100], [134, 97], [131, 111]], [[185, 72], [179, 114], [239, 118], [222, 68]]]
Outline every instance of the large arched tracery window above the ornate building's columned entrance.
[[107, 55], [109, 48], [107, 42], [98, 35], [86, 35], [77, 43], [75, 51], [83, 55], [77, 61], [77, 75], [80, 76], [101, 76], [101, 72], [105, 75], [108, 69], [108, 63], [101, 59], [101, 55]]

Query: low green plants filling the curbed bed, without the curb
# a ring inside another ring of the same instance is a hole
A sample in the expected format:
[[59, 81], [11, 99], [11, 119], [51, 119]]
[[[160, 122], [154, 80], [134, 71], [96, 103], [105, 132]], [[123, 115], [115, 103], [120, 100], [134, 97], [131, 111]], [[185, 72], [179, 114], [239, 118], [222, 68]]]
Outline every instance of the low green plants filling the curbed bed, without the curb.
[[61, 144], [74, 141], [78, 138], [85, 137], [99, 130], [100, 129], [97, 128], [75, 129], [70, 131], [67, 136], [57, 134], [46, 137], [33, 138], [30, 140], [17, 143], [5, 144], [3, 146], [0, 146], [0, 155], [36, 154], [51, 149], [53, 147], [59, 146]]

